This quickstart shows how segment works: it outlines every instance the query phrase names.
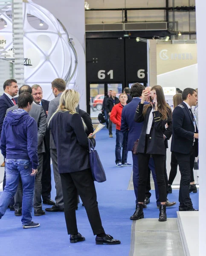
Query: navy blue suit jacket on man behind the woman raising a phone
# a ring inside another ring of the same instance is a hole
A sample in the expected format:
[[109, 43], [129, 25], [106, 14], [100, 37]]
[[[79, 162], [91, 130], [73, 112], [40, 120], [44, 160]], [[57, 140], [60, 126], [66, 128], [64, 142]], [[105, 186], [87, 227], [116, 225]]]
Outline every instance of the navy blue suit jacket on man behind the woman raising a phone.
[[121, 131], [128, 133], [128, 151], [132, 151], [134, 142], [139, 139], [142, 131], [143, 122], [134, 122], [136, 107], [141, 99], [134, 98], [128, 105], [125, 105], [122, 110]]

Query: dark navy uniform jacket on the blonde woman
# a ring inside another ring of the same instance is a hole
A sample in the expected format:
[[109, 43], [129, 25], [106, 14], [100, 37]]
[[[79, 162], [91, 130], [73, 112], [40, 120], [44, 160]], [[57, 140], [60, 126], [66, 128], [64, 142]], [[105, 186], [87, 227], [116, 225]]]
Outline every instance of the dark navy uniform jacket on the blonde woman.
[[89, 143], [80, 114], [58, 112], [51, 119], [49, 128], [57, 148], [59, 173], [89, 169]]

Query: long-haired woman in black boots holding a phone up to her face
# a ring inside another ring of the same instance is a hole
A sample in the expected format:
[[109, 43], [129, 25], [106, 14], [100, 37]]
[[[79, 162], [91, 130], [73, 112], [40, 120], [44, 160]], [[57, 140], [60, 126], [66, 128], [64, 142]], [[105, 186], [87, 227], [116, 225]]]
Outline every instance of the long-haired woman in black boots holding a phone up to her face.
[[[153, 97], [153, 101], [144, 105], [148, 96]], [[172, 122], [172, 114], [171, 108], [165, 102], [165, 96], [160, 85], [152, 87], [151, 92], [143, 90], [142, 100], [136, 108], [135, 122], [144, 122], [137, 146], [139, 185], [136, 220], [144, 218], [143, 203], [148, 178], [148, 163], [152, 154], [161, 203], [159, 221], [166, 221], [167, 191], [164, 178], [165, 144], [163, 132], [165, 131], [165, 124], [168, 123], [169, 125]]]

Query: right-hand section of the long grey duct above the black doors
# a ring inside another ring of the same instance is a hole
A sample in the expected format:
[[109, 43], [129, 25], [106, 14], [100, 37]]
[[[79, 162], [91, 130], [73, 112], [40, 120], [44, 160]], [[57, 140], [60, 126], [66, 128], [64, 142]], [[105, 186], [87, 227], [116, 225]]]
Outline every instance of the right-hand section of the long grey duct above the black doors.
[[125, 23], [125, 31], [167, 30], [167, 22]]

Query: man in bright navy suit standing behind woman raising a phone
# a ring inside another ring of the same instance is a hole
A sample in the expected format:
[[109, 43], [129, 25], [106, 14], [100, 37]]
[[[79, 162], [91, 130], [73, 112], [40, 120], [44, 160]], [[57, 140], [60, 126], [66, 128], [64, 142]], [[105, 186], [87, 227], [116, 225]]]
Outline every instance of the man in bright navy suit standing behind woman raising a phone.
[[[121, 131], [123, 133], [128, 133], [128, 151], [132, 151], [134, 142], [139, 139], [139, 136], [142, 131], [143, 123], [134, 122], [134, 115], [136, 111], [136, 107], [141, 101], [142, 90], [145, 90], [145, 87], [142, 84], [136, 83], [131, 87], [131, 96], [133, 100], [122, 110], [122, 120], [121, 120]], [[134, 185], [134, 193], [136, 196], [136, 205], [138, 204], [137, 195], [138, 195], [138, 180], [139, 180], [139, 166], [138, 166], [138, 155], [132, 154], [133, 158], [133, 185]], [[159, 192], [157, 186], [157, 179], [155, 175], [154, 162], [153, 159], [150, 159], [149, 167], [152, 171], [154, 185], [155, 185], [155, 193], [157, 199], [157, 205], [159, 202]], [[146, 205], [145, 205], [146, 207]]]

